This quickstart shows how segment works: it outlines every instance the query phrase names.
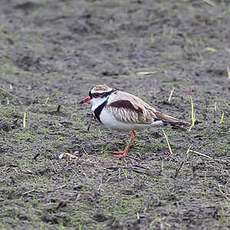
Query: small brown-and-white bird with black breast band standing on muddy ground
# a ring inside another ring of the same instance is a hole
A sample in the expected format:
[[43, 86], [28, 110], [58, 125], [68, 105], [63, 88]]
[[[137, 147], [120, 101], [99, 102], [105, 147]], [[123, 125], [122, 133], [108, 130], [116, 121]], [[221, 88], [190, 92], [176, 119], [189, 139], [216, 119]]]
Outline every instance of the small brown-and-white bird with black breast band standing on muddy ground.
[[96, 85], [89, 90], [89, 96], [79, 104], [90, 102], [91, 111], [97, 120], [109, 129], [131, 131], [124, 150], [113, 152], [118, 158], [127, 156], [136, 136], [136, 131], [148, 127], [171, 125], [186, 130], [190, 123], [164, 114], [141, 98], [128, 92], [111, 88], [105, 84]]

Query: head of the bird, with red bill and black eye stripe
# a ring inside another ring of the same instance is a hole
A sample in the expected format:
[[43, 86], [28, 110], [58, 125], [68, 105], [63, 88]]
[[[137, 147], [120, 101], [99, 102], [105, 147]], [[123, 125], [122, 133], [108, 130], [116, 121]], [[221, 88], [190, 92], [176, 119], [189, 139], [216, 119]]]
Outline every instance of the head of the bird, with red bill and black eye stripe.
[[114, 89], [108, 87], [107, 85], [96, 85], [90, 89], [89, 96], [80, 101], [79, 104], [89, 101], [92, 104], [92, 110], [94, 110], [94, 108], [97, 108], [99, 105], [104, 103], [109, 95], [114, 91]]

